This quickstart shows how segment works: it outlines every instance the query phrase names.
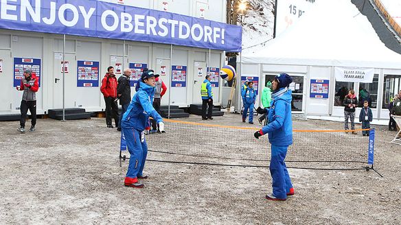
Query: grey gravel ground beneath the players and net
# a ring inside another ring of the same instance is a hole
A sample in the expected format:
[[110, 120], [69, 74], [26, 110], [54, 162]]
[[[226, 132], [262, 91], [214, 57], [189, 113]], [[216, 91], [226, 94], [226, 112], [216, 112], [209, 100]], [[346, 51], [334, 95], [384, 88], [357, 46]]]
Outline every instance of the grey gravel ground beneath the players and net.
[[[259, 127], [234, 114], [181, 120]], [[119, 167], [120, 134], [106, 128], [104, 118], [38, 119], [37, 130], [25, 134], [16, 131], [17, 121], [0, 124], [0, 224], [401, 224], [401, 146], [389, 143], [395, 132], [385, 126], [375, 127], [375, 169], [383, 178], [360, 170], [361, 163], [288, 162], [288, 167], [356, 169], [288, 169], [295, 196], [272, 202], [264, 199], [271, 192], [264, 167], [148, 161], [145, 188], [124, 187], [128, 162]], [[343, 127], [297, 119], [293, 125], [299, 130]], [[169, 122], [166, 130], [148, 135], [149, 150], [203, 157], [149, 152], [148, 159], [268, 165], [243, 160], [270, 158], [266, 138], [253, 139], [254, 130]], [[294, 139], [288, 161], [366, 161], [367, 138], [360, 134], [295, 133]]]

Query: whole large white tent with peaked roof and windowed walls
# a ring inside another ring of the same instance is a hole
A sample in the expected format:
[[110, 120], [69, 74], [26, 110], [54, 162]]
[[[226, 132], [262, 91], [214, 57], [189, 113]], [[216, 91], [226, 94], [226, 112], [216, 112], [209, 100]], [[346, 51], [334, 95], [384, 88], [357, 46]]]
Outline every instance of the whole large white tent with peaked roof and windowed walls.
[[[382, 107], [384, 76], [400, 75], [401, 78], [401, 55], [385, 47], [371, 23], [350, 0], [319, 0], [302, 17], [266, 47], [242, 55], [242, 75], [258, 76], [261, 84], [269, 74], [301, 75], [304, 81], [301, 112], [308, 117], [340, 120], [343, 107], [333, 106], [334, 68], [374, 69], [379, 78], [374, 118], [376, 123], [384, 124], [389, 119], [387, 108]], [[330, 81], [327, 99], [310, 97], [313, 79]], [[398, 82], [397, 85], [400, 86]], [[358, 84], [354, 88], [358, 93]]]

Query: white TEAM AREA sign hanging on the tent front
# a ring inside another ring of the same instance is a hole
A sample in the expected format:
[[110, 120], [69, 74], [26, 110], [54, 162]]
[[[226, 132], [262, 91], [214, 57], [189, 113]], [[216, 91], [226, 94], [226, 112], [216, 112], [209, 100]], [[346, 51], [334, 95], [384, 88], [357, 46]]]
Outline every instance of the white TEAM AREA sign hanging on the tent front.
[[334, 75], [336, 75], [336, 81], [340, 82], [371, 83], [373, 82], [374, 69], [358, 67], [335, 67]]

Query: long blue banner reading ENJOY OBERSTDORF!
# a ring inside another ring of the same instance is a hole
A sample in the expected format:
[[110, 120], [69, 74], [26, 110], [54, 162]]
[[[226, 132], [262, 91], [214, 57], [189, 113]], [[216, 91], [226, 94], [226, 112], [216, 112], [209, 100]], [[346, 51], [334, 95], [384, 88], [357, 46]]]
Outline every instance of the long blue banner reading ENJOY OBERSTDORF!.
[[241, 51], [242, 27], [102, 1], [1, 0], [0, 28]]

